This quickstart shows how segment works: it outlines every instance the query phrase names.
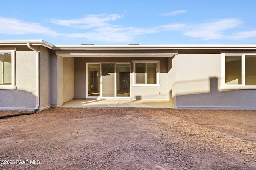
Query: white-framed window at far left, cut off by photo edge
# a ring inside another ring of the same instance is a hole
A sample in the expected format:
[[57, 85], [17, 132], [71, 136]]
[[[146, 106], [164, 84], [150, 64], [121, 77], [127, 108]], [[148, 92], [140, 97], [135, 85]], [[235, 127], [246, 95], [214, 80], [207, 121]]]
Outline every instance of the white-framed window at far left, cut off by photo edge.
[[14, 50], [0, 50], [0, 89], [14, 88]]

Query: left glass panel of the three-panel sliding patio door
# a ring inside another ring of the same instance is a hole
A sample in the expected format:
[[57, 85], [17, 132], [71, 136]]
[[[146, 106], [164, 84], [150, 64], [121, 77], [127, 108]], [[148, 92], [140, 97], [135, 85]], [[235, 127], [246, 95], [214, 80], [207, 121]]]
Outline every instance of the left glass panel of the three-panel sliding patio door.
[[100, 96], [100, 64], [88, 64], [88, 97]]

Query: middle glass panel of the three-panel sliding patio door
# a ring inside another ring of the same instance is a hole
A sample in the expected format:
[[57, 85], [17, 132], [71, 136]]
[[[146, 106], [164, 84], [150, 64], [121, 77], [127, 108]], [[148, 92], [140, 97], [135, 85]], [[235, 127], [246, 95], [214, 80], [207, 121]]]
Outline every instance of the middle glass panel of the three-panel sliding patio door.
[[115, 64], [101, 64], [102, 97], [115, 97]]

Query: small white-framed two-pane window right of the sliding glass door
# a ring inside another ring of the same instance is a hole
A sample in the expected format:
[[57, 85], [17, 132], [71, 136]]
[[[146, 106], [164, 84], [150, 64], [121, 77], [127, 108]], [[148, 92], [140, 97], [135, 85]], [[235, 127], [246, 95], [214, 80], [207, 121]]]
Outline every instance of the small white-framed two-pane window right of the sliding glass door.
[[160, 86], [160, 61], [133, 61], [133, 86]]

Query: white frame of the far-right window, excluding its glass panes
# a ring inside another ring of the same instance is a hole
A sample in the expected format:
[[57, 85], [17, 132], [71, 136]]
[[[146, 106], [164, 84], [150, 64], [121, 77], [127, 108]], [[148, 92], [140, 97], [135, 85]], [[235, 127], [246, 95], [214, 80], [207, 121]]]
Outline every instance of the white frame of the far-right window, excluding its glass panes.
[[[245, 85], [245, 55], [256, 55], [256, 53], [222, 53], [221, 54], [221, 89], [256, 89], [256, 85]], [[225, 80], [225, 59], [226, 56], [241, 56], [242, 57], [242, 84], [226, 84]]]

